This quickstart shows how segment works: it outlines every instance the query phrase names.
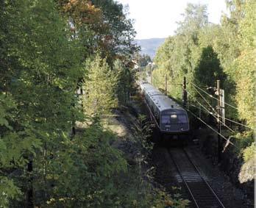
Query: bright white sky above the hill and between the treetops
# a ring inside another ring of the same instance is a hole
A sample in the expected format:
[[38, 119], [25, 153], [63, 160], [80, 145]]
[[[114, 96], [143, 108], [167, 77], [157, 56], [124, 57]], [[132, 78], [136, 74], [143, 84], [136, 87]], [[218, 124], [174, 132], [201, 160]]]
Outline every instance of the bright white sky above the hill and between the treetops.
[[188, 3], [206, 4], [208, 20], [219, 24], [221, 13], [227, 13], [225, 0], [117, 0], [121, 4], [129, 4], [128, 18], [135, 20], [133, 24], [137, 35], [135, 39], [152, 37], [168, 37], [174, 35], [177, 21], [182, 21], [182, 13]]

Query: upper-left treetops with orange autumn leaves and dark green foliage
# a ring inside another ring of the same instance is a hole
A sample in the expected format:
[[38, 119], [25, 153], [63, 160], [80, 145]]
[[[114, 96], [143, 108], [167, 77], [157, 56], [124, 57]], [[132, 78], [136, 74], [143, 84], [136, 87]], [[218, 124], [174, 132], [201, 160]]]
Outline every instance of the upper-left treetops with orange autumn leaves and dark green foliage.
[[122, 4], [113, 0], [57, 2], [90, 54], [97, 51], [110, 67], [116, 59], [130, 62], [132, 54], [138, 51], [132, 43], [135, 37], [132, 21], [124, 14]]

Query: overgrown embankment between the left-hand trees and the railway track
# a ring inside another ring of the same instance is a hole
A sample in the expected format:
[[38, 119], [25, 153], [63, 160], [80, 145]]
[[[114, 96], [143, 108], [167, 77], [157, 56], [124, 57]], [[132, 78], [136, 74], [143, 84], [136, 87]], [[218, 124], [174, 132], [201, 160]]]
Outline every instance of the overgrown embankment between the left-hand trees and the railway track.
[[[115, 135], [111, 145], [123, 153], [127, 161], [127, 171], [119, 179], [118, 184], [130, 193], [134, 207], [171, 207], [185, 208], [188, 201], [170, 195], [162, 186], [156, 186], [152, 180], [155, 167], [149, 162], [152, 143], [145, 143], [146, 132], [141, 132], [140, 102], [132, 102], [128, 106], [118, 107], [111, 115], [104, 118], [104, 128]], [[147, 120], [145, 120], [146, 122]], [[141, 128], [142, 127], [142, 128]]]

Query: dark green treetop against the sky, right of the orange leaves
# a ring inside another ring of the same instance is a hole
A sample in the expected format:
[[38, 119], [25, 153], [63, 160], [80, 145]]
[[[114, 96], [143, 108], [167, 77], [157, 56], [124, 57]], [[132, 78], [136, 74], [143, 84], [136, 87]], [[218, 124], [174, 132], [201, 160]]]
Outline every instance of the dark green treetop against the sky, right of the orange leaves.
[[132, 55], [138, 51], [138, 46], [133, 43], [136, 32], [132, 26], [132, 20], [127, 18], [128, 8], [113, 0], [93, 0], [92, 3], [101, 8], [104, 23], [107, 23], [110, 29], [107, 30], [106, 35], [110, 40], [107, 47], [102, 50], [104, 57], [107, 57], [107, 62], [112, 66], [118, 57], [124, 62], [130, 62]]

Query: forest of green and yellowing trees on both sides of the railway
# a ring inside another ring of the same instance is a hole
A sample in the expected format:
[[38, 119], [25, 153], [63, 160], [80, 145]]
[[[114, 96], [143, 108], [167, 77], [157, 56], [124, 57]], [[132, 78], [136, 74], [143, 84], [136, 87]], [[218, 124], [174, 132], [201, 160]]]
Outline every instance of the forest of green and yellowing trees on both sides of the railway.
[[[205, 6], [188, 4], [177, 34], [157, 50], [154, 85], [166, 74], [200, 87], [221, 79], [236, 107], [227, 116], [252, 129], [255, 1], [227, 5], [230, 16], [214, 25]], [[114, 0], [0, 1], [0, 207], [185, 207], [148, 184], [104, 126], [135, 90], [139, 47], [127, 12]], [[179, 98], [181, 89], [168, 92]], [[252, 134], [240, 135], [242, 148], [253, 147]]]

